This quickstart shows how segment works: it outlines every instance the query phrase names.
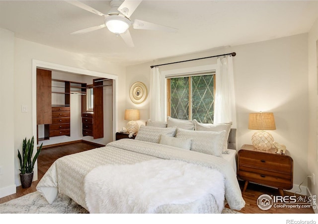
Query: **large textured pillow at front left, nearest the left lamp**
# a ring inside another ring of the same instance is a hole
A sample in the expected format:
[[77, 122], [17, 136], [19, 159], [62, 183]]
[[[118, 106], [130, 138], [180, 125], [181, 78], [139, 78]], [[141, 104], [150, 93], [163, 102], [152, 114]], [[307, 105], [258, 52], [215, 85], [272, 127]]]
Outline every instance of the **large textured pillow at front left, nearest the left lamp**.
[[136, 135], [136, 140], [159, 143], [160, 135], [174, 137], [176, 127], [153, 127], [141, 125]]

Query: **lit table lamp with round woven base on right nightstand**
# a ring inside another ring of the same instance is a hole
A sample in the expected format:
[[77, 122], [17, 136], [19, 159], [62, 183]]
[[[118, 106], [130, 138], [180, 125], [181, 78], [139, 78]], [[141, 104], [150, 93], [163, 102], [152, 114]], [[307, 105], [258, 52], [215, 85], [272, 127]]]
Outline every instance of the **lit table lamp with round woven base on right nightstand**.
[[259, 130], [252, 136], [252, 144], [256, 149], [269, 150], [272, 148], [274, 138], [265, 130], [276, 130], [273, 113], [250, 113], [248, 129]]

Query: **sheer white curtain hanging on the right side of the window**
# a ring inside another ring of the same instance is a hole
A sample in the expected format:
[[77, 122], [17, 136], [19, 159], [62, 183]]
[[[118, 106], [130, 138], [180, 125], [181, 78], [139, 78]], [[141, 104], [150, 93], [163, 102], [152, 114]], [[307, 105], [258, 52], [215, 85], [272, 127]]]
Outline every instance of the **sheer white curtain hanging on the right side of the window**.
[[231, 121], [236, 128], [233, 57], [227, 56], [217, 60], [214, 123]]

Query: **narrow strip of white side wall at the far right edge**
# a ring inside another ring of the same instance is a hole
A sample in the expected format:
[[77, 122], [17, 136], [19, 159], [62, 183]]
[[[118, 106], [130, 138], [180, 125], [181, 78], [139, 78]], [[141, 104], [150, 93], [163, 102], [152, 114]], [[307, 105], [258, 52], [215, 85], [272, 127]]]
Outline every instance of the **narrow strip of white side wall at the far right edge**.
[[[315, 174], [316, 184], [309, 179], [308, 189], [312, 195], [318, 195], [318, 19], [308, 35], [309, 65], [309, 135], [308, 135], [308, 175]], [[318, 213], [318, 209], [315, 210]]]

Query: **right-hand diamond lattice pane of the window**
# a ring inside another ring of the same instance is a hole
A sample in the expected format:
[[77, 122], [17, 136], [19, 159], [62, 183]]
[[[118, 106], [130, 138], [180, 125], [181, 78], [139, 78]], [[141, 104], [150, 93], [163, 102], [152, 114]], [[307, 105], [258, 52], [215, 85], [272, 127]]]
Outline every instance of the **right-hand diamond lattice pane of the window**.
[[192, 119], [201, 123], [213, 123], [213, 89], [213, 75], [192, 77]]

